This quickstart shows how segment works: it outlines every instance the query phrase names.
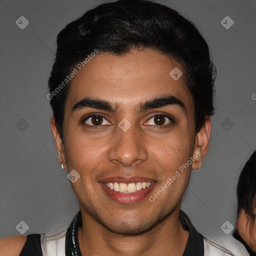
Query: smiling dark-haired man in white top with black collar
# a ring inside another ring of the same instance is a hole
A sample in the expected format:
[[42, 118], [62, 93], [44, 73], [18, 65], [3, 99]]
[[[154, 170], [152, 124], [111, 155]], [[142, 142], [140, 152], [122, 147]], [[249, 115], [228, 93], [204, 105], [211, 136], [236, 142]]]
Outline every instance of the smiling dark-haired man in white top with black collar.
[[213, 84], [205, 40], [166, 6], [119, 0], [69, 23], [47, 98], [80, 211], [59, 234], [23, 238], [19, 255], [233, 255], [180, 210], [208, 151]]

